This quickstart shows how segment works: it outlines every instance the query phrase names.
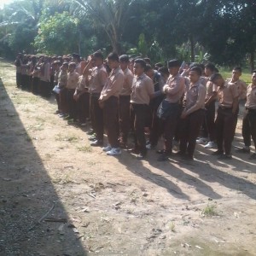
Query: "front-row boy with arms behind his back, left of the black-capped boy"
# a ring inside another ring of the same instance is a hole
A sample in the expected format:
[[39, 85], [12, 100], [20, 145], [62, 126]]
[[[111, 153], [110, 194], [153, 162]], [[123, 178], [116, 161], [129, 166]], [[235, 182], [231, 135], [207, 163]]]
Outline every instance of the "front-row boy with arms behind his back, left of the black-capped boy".
[[150, 98], [154, 97], [154, 84], [152, 79], [144, 73], [146, 62], [143, 59], [134, 61], [134, 74], [131, 88], [131, 119], [134, 125], [135, 148], [137, 159], [145, 158], [147, 154], [146, 139], [144, 135], [144, 127], [146, 125], [146, 117], [148, 113], [148, 104]]

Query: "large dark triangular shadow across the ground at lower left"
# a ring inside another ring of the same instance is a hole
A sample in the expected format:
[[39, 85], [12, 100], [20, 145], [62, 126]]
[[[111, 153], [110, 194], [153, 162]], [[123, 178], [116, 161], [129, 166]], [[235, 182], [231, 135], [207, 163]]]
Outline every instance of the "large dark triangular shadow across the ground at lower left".
[[0, 119], [0, 255], [87, 255], [2, 80]]

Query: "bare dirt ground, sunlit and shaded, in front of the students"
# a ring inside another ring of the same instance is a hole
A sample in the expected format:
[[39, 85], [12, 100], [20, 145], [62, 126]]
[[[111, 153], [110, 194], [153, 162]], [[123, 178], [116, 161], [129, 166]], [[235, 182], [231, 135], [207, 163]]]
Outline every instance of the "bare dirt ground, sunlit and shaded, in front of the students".
[[0, 76], [1, 256], [256, 255], [247, 154], [219, 161], [199, 145], [193, 163], [107, 156], [88, 127], [54, 114], [53, 98], [16, 88], [9, 62]]

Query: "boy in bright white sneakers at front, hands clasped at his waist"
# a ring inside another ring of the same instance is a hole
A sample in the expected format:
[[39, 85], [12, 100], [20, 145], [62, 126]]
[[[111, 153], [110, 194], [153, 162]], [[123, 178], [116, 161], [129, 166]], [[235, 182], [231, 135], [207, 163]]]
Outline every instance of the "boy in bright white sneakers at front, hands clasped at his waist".
[[111, 73], [102, 89], [99, 98], [100, 107], [103, 109], [104, 126], [108, 136], [108, 146], [102, 148], [108, 155], [121, 154], [119, 148], [119, 94], [125, 82], [125, 74], [119, 67], [119, 55], [108, 55], [108, 66]]

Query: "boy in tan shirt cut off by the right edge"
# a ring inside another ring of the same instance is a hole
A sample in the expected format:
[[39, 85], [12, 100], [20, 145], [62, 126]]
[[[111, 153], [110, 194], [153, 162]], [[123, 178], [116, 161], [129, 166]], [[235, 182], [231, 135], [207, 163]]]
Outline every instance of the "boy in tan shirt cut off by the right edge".
[[247, 102], [245, 103], [246, 112], [242, 119], [242, 137], [244, 147], [239, 148], [236, 152], [250, 153], [251, 136], [255, 147], [249, 159], [256, 160], [256, 70], [253, 70], [252, 84], [247, 87]]

